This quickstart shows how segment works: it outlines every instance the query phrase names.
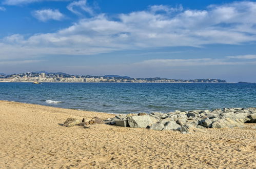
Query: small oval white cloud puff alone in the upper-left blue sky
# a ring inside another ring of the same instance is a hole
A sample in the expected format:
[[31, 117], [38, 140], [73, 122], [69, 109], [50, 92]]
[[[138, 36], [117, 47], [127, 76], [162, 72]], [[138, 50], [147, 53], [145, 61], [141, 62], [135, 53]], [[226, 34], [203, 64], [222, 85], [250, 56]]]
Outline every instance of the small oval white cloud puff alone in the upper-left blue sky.
[[37, 10], [37, 11], [34, 11], [32, 14], [35, 18], [43, 22], [46, 22], [47, 20], [50, 20], [50, 19], [62, 20], [64, 18], [64, 15], [57, 9]]

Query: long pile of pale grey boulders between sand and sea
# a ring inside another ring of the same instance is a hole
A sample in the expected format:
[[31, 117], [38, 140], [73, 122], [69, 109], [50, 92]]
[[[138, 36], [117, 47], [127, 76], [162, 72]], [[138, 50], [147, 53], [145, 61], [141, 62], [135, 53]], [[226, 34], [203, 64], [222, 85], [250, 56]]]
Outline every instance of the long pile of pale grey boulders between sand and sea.
[[243, 128], [245, 122], [256, 122], [256, 108], [120, 114], [105, 120], [105, 123], [117, 126], [149, 128], [157, 131], [174, 130], [183, 133], [188, 133], [195, 128]]

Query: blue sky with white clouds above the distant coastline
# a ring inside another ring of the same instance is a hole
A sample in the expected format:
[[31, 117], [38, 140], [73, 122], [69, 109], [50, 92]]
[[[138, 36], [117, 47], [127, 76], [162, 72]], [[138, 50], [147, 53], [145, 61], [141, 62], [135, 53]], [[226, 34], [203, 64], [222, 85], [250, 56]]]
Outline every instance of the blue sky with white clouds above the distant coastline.
[[256, 82], [256, 1], [0, 0], [0, 73]]

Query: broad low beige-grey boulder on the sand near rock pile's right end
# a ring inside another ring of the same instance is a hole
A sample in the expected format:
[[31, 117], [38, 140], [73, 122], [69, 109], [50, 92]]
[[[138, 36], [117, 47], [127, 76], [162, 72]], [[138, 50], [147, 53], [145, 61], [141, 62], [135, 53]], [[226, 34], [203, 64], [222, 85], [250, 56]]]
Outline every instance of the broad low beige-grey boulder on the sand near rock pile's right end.
[[230, 118], [223, 118], [223, 119], [214, 121], [211, 127], [212, 128], [234, 128], [234, 127], [243, 128], [244, 123], [239, 119], [233, 120]]

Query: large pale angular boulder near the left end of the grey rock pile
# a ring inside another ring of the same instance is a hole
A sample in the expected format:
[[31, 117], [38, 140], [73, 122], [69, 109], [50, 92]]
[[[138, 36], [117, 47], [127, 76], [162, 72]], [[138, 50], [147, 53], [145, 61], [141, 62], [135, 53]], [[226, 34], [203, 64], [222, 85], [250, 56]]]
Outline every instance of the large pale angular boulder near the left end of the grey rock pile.
[[152, 124], [152, 121], [148, 115], [145, 116], [130, 116], [127, 118], [131, 128], [147, 128]]

